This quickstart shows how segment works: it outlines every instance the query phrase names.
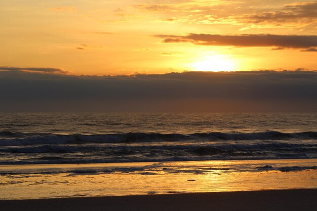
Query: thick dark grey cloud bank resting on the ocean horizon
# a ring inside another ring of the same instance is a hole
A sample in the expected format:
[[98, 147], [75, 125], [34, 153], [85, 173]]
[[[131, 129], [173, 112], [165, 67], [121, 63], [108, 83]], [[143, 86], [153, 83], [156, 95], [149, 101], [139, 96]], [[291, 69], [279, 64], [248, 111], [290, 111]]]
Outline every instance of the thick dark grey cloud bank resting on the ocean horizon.
[[316, 112], [316, 90], [316, 71], [121, 76], [0, 71], [0, 110]]

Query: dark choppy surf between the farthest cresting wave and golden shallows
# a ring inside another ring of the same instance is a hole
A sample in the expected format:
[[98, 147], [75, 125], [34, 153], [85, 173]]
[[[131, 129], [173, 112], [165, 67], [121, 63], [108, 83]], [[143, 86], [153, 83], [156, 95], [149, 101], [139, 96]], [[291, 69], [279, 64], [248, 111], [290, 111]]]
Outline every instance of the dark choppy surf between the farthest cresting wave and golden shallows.
[[159, 162], [317, 158], [316, 144], [83, 144], [2, 146], [0, 164]]

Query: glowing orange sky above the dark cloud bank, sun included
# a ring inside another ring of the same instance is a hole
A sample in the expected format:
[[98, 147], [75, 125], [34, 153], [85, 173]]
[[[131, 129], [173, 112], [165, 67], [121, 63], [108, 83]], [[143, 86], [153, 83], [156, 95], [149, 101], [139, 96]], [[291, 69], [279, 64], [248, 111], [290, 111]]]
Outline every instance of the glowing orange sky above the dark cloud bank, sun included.
[[2, 0], [0, 66], [89, 75], [317, 69], [316, 14], [317, 1]]

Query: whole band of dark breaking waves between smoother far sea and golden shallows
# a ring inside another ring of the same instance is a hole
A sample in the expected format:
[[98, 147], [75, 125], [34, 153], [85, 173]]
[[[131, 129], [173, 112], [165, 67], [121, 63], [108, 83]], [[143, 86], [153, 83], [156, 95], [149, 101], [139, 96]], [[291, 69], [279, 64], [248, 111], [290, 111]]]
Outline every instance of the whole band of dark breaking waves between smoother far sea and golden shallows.
[[1, 136], [0, 164], [317, 158], [317, 132]]

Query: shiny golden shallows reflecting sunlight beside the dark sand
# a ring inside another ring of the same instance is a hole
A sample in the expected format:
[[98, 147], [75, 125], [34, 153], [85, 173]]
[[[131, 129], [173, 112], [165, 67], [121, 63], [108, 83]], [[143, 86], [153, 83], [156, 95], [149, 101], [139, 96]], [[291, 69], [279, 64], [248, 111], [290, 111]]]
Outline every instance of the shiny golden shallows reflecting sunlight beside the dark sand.
[[[6, 165], [0, 168], [0, 198], [317, 188], [316, 170], [257, 170], [258, 166], [263, 165], [311, 166], [316, 161], [317, 159]], [[105, 171], [108, 169], [112, 171]], [[4, 174], [10, 171], [18, 171], [20, 174]], [[64, 173], [58, 173], [62, 171]], [[67, 171], [71, 173], [66, 173]]]

